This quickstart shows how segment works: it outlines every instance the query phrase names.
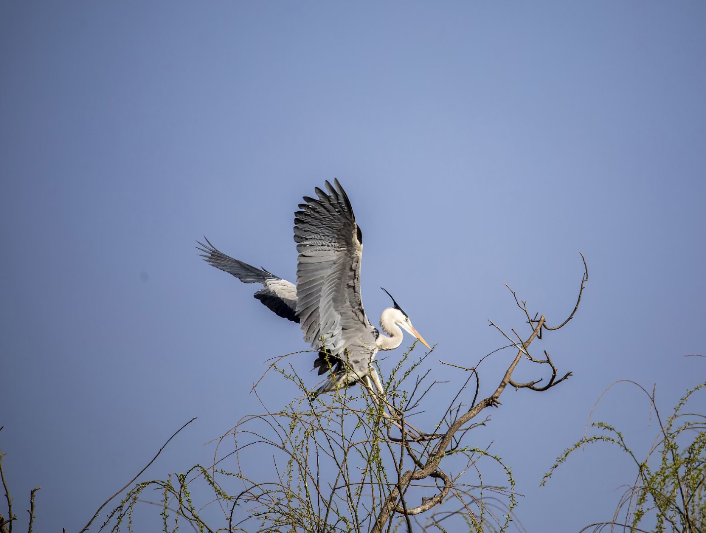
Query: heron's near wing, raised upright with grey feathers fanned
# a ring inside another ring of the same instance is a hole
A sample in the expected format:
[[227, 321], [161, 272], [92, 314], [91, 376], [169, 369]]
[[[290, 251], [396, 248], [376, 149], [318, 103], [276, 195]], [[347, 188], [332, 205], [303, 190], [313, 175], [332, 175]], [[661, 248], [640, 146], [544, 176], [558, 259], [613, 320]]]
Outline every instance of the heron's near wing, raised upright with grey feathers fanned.
[[[374, 353], [374, 328], [365, 316], [360, 293], [363, 235], [338, 180], [316, 188], [318, 200], [304, 197], [294, 214], [297, 242], [297, 316], [304, 339], [345, 359], [363, 376]], [[348, 348], [347, 355], [344, 355]]]

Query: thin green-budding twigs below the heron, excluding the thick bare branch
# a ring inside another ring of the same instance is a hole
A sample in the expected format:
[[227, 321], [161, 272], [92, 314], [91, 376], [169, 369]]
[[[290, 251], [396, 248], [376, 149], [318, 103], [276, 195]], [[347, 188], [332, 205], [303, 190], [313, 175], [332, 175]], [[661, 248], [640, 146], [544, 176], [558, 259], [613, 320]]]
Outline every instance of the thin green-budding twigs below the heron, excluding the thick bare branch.
[[[450, 476], [448, 484], [441, 484], [433, 476], [400, 483], [402, 472], [414, 468], [409, 458], [415, 457], [421, 465], [433, 453], [439, 436], [415, 441], [405, 431], [405, 439], [400, 438], [400, 425], [413, 431], [405, 416], [419, 410], [421, 400], [436, 385], [433, 382], [423, 388], [429, 372], [419, 374], [429, 354], [412, 359], [411, 351], [405, 353], [383, 384], [387, 409], [371, 400], [373, 396], [364, 386], [341, 388], [332, 395], [313, 398], [287, 363], [287, 356], [278, 357], [270, 363], [268, 372], [297, 388], [301, 393], [298, 398], [273, 412], [258, 396], [263, 414], [242, 418], [212, 441], [212, 465], [196, 465], [167, 479], [136, 484], [101, 529], [132, 532], [136, 504], [145, 501], [148, 489], [156, 489], [161, 501], [146, 503], [159, 503], [165, 533], [177, 532], [184, 522], [201, 533], [362, 532], [373, 529], [395, 487], [402, 494], [398, 505], [411, 508], [407, 501], [421, 498], [424, 502], [429, 491], [438, 494], [448, 485], [448, 496], [426, 513], [423, 521], [413, 517], [419, 530], [444, 532], [445, 524], [449, 524], [454, 532], [460, 530], [459, 525], [469, 532], [505, 531], [517, 503], [515, 480], [510, 468], [487, 449], [461, 446], [459, 442], [450, 446], [443, 457], [458, 458], [459, 472]], [[262, 382], [253, 387], [256, 395]], [[454, 407], [452, 403], [435, 431], [453, 424]], [[397, 427], [388, 411], [398, 417]], [[263, 464], [265, 457], [271, 462]], [[501, 468], [509, 489], [484, 484], [479, 467], [482, 460]], [[474, 477], [473, 482], [465, 482], [469, 477]], [[200, 501], [205, 503], [196, 505], [192, 492], [200, 494]], [[207, 492], [210, 496], [203, 498]], [[407, 531], [407, 527], [407, 518], [402, 517], [390, 520], [384, 530]]]

